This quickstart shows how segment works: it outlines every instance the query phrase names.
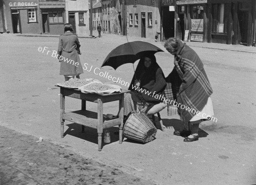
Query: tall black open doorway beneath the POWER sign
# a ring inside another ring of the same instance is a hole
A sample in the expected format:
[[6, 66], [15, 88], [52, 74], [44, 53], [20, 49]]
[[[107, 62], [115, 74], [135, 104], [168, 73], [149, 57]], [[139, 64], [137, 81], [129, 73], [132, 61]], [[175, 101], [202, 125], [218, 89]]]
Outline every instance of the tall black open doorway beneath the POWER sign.
[[168, 39], [170, 37], [174, 37], [175, 33], [175, 11], [169, 11], [169, 6], [162, 7], [162, 23], [163, 23], [163, 39]]

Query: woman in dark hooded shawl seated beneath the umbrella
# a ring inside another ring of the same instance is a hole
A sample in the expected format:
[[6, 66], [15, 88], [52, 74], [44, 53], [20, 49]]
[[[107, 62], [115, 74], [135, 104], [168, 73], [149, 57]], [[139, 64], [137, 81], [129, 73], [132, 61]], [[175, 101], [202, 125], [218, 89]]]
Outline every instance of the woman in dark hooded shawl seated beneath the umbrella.
[[[154, 54], [144, 55], [140, 59], [128, 88], [131, 93], [125, 95], [124, 115], [127, 116], [131, 111], [140, 111], [148, 114], [148, 111], [154, 105], [165, 100], [163, 97], [165, 87], [165, 77], [156, 62]], [[162, 106], [164, 108], [167, 105], [163, 104]], [[154, 113], [151, 112], [151, 114]]]

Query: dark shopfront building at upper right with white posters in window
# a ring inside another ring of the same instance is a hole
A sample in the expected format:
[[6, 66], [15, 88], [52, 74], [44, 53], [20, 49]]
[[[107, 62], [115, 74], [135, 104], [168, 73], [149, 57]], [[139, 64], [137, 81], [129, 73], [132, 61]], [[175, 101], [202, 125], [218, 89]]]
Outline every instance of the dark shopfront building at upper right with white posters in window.
[[255, 0], [176, 0], [175, 37], [253, 46]]

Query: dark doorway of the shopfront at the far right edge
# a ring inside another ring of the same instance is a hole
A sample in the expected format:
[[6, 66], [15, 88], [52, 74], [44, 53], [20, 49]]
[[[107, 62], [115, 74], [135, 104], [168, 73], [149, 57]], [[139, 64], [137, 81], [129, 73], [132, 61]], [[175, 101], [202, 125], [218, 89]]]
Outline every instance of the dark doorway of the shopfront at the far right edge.
[[248, 11], [239, 11], [238, 19], [239, 19], [239, 26], [240, 26], [240, 32], [241, 32], [241, 43], [240, 44], [243, 44], [243, 45], [247, 45], [248, 17], [249, 17]]

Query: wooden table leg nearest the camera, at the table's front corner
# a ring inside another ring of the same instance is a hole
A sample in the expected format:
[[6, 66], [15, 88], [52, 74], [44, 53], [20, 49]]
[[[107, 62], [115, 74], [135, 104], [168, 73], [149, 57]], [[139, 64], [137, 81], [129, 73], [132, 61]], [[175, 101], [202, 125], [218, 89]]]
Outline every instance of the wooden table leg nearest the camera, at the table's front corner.
[[101, 99], [98, 99], [98, 146], [99, 151], [102, 150], [102, 133], [103, 133], [103, 103]]

